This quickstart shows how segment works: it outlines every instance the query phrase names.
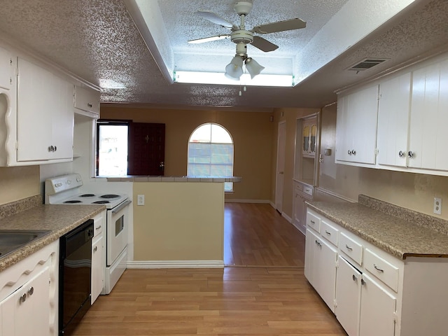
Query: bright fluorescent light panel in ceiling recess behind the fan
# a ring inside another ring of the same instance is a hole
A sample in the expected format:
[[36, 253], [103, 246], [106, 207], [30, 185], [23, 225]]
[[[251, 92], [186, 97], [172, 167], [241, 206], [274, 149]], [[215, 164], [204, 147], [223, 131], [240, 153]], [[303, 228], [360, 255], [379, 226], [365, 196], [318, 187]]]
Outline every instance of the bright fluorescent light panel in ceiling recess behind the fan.
[[292, 87], [293, 76], [265, 75], [260, 73], [251, 79], [250, 74], [243, 73], [239, 80], [232, 80], [225, 77], [224, 73], [221, 72], [175, 71], [174, 82], [191, 84]]

